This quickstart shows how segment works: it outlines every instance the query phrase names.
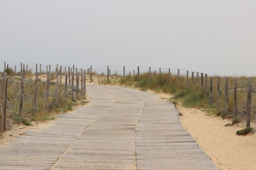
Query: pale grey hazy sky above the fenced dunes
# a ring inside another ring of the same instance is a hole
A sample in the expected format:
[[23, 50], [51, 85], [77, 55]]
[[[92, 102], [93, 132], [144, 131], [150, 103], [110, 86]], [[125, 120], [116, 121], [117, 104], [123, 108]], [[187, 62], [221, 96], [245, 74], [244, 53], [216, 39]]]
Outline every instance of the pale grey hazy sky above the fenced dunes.
[[255, 0], [0, 0], [0, 62], [256, 75]]

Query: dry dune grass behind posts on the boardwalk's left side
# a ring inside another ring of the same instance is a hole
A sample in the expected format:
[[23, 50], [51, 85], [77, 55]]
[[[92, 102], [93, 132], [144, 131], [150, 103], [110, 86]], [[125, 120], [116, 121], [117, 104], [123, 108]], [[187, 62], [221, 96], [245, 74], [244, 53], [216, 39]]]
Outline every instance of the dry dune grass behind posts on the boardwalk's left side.
[[[10, 70], [9, 84], [7, 91], [7, 110], [6, 110], [6, 128], [10, 129], [13, 123], [24, 125], [32, 125], [32, 121], [42, 122], [55, 118], [55, 114], [71, 111], [74, 106], [84, 105], [87, 103], [85, 98], [80, 98], [80, 101], [71, 100], [71, 89], [68, 87], [68, 92], [65, 94], [64, 85], [59, 84], [58, 99], [56, 95], [55, 75], [51, 74], [49, 86], [49, 98], [46, 102], [46, 79], [41, 76], [38, 81], [38, 93], [36, 106], [33, 105], [34, 84], [33, 74], [28, 72], [24, 81], [24, 96], [23, 109], [19, 113], [21, 100], [21, 77]], [[76, 91], [76, 89], [74, 89]]]

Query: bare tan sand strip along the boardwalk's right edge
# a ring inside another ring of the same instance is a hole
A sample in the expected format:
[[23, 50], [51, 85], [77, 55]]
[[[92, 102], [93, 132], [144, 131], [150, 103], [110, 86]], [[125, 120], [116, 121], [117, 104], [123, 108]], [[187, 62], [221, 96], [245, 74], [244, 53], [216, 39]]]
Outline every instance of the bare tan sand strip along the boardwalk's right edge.
[[[156, 94], [154, 91], [148, 91]], [[169, 100], [169, 94], [156, 94], [162, 99]], [[249, 170], [256, 167], [256, 134], [238, 136], [236, 131], [245, 128], [245, 123], [225, 127], [230, 120], [207, 115], [198, 108], [176, 106], [183, 128], [187, 130], [198, 145], [222, 170]], [[252, 122], [256, 128], [256, 123]]]

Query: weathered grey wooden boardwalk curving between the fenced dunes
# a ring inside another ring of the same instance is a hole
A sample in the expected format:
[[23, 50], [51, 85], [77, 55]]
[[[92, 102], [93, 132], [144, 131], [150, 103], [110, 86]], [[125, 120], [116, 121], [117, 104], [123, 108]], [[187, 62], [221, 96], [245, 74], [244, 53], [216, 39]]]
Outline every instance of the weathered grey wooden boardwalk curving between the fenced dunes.
[[217, 169], [158, 96], [89, 85], [91, 105], [0, 147], [0, 169]]

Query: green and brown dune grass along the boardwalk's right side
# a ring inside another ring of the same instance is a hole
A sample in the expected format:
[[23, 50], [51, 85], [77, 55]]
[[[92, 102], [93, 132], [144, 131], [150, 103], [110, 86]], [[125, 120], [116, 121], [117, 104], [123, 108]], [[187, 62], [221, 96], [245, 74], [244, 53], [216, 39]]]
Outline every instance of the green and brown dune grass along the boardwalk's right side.
[[[200, 80], [200, 81], [199, 81]], [[171, 101], [174, 103], [182, 103], [184, 107], [203, 108], [210, 115], [221, 116], [222, 118], [230, 118], [234, 125], [245, 120], [246, 98], [247, 98], [247, 78], [238, 78], [238, 117], [233, 118], [234, 112], [234, 78], [229, 77], [229, 101], [228, 113], [224, 112], [225, 106], [225, 79], [220, 79], [220, 101], [217, 102], [217, 77], [213, 77], [213, 102], [209, 99], [209, 78], [208, 91], [206, 92], [205, 77], [203, 79], [203, 86], [201, 86], [200, 79], [194, 79], [194, 86], [192, 86], [192, 79], [189, 79], [189, 86], [186, 85], [186, 77], [169, 74], [156, 74], [156, 72], [149, 74], [149, 72], [138, 75], [127, 75], [119, 77], [119, 81], [104, 81], [102, 84], [120, 84], [123, 86], [134, 86], [142, 91], [152, 90], [156, 92], [163, 92], [172, 94], [174, 97]], [[255, 89], [252, 89], [252, 120], [255, 118], [256, 107]]]

